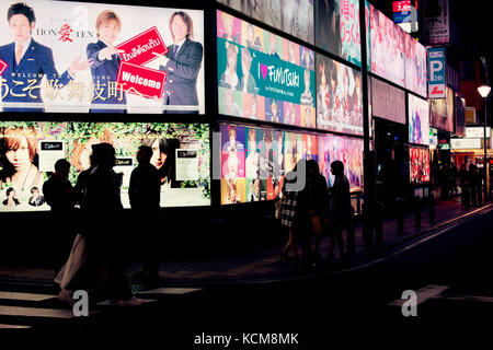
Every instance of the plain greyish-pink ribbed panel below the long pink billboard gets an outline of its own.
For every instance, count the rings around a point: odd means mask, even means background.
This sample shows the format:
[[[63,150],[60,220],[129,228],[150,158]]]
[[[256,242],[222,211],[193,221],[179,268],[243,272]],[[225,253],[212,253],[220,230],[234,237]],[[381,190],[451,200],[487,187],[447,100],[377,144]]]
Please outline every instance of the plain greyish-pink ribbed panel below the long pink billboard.
[[[371,78],[371,115],[405,124],[404,91]]]

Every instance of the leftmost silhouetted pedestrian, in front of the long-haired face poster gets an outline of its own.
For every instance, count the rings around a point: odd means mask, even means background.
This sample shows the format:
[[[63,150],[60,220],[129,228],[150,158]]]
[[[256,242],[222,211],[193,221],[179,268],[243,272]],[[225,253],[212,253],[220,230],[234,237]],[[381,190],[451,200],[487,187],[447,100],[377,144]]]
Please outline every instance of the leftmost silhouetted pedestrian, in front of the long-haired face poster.
[[[43,185],[44,200],[51,207],[51,247],[55,249],[55,266],[58,271],[64,266],[73,242],[73,189],[68,180],[70,163],[60,159],[55,163],[55,172]]]

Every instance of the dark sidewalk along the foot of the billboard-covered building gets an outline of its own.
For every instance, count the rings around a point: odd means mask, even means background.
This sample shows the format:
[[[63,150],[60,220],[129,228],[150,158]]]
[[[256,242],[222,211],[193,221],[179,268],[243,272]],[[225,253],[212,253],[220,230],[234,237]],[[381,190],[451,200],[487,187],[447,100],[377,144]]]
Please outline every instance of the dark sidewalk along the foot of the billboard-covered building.
[[[482,208],[493,206],[485,205]],[[389,249],[410,243],[410,241],[433,232],[440,226],[445,226],[465,215],[473,215],[478,208],[466,210],[460,203],[460,196],[451,200],[436,201],[436,220],[428,222],[428,207],[422,208],[422,228],[414,228],[414,212],[404,213],[404,232],[398,233],[398,223],[394,218],[383,220],[383,240],[380,244],[372,247],[366,247],[362,236],[362,225],[356,225],[356,254],[344,266],[334,266],[331,271],[345,269],[365,264],[371,259],[378,258]],[[287,237],[286,237],[287,240]],[[329,250],[329,238],[324,237],[321,245],[321,254],[326,256]],[[299,253],[301,250],[299,249]],[[317,276],[328,272],[328,270],[314,270],[301,272],[294,270],[290,261],[280,261],[280,246],[274,248],[262,248],[249,254],[221,256],[221,257],[200,257],[200,258],[163,258],[161,260],[160,278],[164,287],[174,285],[205,285],[214,283],[231,283],[240,281],[260,281],[260,280],[283,280],[289,278],[300,278]],[[131,281],[134,272],[138,271],[140,265],[131,265],[127,268],[127,277]],[[36,268],[9,268],[0,267],[1,280],[36,280],[38,282],[50,282],[54,278],[54,271],[50,269]],[[137,287],[138,288],[138,287]]]

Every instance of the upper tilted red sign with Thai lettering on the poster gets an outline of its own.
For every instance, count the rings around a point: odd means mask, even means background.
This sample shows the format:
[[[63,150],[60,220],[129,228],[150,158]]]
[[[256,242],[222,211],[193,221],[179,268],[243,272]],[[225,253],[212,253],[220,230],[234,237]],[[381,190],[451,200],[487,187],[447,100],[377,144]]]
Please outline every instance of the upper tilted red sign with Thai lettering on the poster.
[[[124,62],[142,66],[157,58],[156,54],[165,55],[169,52],[164,40],[156,26],[140,33],[133,38],[115,46],[124,52],[119,57]]]

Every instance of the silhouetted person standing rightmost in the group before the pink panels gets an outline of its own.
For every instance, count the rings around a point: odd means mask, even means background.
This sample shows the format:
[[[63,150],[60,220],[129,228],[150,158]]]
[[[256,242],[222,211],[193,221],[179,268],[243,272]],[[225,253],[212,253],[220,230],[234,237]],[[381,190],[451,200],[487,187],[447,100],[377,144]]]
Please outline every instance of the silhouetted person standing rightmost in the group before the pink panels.
[[[334,185],[329,189],[329,224],[331,225],[331,238],[329,247],[329,261],[334,261],[335,244],[339,246],[340,258],[345,256],[343,231],[351,226],[351,194],[349,182],[344,175],[344,163],[334,161],[331,163],[331,173],[335,176]]]

